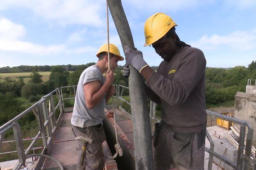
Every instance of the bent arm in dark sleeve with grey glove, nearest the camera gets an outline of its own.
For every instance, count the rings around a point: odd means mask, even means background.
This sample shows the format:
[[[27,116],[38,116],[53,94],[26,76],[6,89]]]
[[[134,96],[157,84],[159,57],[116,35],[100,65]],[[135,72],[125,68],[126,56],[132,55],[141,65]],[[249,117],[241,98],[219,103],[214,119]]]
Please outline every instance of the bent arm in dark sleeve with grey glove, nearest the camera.
[[[143,59],[140,51],[127,48],[125,59],[128,65],[136,68],[147,80],[148,85],[155,94],[169,105],[180,105],[186,101],[191,91],[205,75],[206,60],[201,50],[191,48],[180,61],[180,68],[175,77],[170,80],[154,72]],[[145,65],[142,67],[142,65]]]

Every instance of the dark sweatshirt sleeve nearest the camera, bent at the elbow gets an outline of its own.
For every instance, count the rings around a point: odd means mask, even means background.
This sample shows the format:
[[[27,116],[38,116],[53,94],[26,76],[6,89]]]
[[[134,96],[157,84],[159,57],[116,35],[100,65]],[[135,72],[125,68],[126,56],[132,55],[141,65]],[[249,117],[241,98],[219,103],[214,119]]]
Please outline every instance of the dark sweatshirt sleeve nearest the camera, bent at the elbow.
[[[201,50],[193,48],[181,56],[172,80],[154,72],[146,82],[169,105],[181,105],[205,74],[206,60]]]

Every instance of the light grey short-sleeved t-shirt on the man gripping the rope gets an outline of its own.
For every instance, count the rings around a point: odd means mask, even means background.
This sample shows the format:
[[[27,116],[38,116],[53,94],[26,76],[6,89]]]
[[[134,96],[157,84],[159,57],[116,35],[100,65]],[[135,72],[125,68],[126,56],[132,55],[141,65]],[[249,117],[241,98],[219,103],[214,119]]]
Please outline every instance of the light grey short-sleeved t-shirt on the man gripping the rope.
[[[92,81],[100,81],[101,86],[105,83],[105,78],[96,65],[86,68],[79,78],[73,115],[71,118],[71,124],[74,126],[88,127],[102,123],[106,98],[103,97],[93,109],[88,109],[85,104],[84,84]]]

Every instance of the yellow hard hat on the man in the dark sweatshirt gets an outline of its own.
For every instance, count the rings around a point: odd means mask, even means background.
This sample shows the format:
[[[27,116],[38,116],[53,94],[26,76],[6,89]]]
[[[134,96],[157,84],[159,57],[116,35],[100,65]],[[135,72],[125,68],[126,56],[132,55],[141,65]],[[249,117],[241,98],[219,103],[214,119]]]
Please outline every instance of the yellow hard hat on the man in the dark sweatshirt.
[[[163,37],[173,26],[177,24],[164,13],[156,13],[149,17],[144,26],[145,46],[148,46]]]

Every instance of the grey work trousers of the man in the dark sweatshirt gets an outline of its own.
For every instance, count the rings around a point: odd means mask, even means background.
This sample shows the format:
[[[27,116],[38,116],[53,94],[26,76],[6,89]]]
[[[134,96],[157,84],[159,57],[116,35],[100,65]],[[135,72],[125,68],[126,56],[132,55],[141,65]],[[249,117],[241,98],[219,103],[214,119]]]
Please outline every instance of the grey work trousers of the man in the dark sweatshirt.
[[[205,130],[177,133],[163,122],[155,125],[154,170],[204,170]]]

